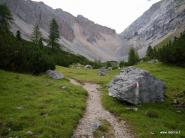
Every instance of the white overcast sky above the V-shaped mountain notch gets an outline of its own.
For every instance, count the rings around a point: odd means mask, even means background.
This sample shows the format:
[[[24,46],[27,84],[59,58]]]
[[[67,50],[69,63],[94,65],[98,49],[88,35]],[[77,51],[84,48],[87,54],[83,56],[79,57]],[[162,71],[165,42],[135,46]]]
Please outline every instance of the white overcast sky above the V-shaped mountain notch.
[[[34,0],[61,8],[74,16],[83,15],[95,23],[121,33],[160,0]]]

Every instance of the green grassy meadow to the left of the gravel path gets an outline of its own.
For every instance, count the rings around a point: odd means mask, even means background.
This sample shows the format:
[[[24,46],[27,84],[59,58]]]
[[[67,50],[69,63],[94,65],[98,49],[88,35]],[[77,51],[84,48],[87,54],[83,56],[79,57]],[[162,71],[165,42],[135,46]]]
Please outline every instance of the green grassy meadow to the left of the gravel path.
[[[69,138],[86,97],[68,80],[0,70],[0,138]]]

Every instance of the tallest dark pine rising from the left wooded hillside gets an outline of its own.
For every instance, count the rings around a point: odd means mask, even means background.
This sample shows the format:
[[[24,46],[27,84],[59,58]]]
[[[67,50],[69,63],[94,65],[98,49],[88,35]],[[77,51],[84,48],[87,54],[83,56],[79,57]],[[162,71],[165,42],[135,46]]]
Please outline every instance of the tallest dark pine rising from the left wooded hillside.
[[[50,23],[49,45],[54,49],[58,47],[58,39],[60,38],[59,26],[55,19]]]

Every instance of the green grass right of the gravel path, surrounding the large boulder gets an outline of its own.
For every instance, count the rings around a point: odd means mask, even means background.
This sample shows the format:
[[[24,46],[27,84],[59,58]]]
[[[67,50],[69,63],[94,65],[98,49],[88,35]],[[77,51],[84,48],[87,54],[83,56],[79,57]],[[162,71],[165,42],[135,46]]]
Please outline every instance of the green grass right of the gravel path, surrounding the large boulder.
[[[175,109],[171,103],[177,94],[185,91],[185,68],[163,64],[139,64],[143,68],[164,81],[166,85],[165,102],[138,106],[138,111],[129,111],[125,103],[108,96],[107,84],[119,73],[118,70],[109,71],[106,76],[99,76],[97,70],[71,69],[57,67],[69,78],[80,82],[94,82],[102,86],[102,103],[110,112],[120,119],[126,120],[130,129],[139,138],[185,137],[185,111]],[[161,131],[175,131],[180,134],[160,134]],[[170,133],[170,132],[169,132]],[[173,133],[173,132],[172,132]]]

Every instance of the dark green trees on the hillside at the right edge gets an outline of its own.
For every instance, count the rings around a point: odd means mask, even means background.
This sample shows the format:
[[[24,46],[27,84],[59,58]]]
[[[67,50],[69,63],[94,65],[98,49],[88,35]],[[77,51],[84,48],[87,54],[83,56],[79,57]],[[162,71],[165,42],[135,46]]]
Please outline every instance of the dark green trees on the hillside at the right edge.
[[[148,47],[146,59],[158,59],[165,64],[185,66],[185,32],[160,47]]]

